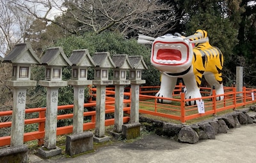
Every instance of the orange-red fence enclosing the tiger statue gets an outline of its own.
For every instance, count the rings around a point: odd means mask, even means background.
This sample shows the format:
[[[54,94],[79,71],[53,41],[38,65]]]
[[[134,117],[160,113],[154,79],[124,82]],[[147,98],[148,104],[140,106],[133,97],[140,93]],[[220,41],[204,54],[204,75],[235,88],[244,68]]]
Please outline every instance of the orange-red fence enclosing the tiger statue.
[[[176,90],[180,91],[179,89],[180,86],[178,86]],[[213,90],[212,96],[210,96],[209,94],[211,92],[211,89],[207,87],[201,88],[201,93],[206,95],[198,99],[185,99],[184,92],[180,92],[180,94],[175,94],[173,98],[147,96],[141,94],[140,97],[148,100],[140,100],[140,113],[155,115],[164,118],[171,118],[173,120],[179,120],[180,122],[185,123],[188,120],[204,117],[207,115],[216,115],[220,111],[233,110],[241,106],[255,103],[255,91],[255,89],[246,89],[246,87],[243,87],[243,91],[236,92],[235,87],[225,87],[224,94],[218,95],[224,96],[224,99],[222,101],[216,101],[216,98],[218,96],[216,96],[215,90]],[[173,103],[157,103],[157,100],[161,99],[170,100],[173,101]],[[188,101],[195,100],[204,101],[205,113],[198,113],[198,108],[196,105],[186,106],[186,103]]]

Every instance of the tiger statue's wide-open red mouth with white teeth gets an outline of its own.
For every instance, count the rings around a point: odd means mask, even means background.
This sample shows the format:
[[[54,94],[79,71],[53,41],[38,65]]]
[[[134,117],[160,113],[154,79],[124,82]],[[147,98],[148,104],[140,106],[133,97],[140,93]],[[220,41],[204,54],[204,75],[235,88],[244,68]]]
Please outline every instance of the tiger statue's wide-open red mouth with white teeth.
[[[188,45],[183,42],[156,41],[152,46],[151,60],[154,64],[177,66],[188,62]]]

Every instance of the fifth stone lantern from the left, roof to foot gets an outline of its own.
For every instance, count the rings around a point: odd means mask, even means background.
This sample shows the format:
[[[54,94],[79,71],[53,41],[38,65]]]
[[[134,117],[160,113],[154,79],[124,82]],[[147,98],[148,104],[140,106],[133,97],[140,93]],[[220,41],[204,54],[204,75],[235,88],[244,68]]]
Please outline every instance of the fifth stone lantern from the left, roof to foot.
[[[124,124],[124,85],[129,85],[130,80],[126,79],[126,73],[132,66],[127,54],[113,55],[113,62],[116,67],[113,69],[113,85],[115,85],[115,125],[114,131],[121,132]],[[113,132],[115,137],[118,133]]]

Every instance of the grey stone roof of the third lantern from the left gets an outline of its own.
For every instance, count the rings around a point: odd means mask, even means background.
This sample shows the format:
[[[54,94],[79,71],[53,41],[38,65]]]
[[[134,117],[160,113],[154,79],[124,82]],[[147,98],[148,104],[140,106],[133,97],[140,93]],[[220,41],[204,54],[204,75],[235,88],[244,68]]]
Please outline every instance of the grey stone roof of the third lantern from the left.
[[[87,49],[73,50],[72,54],[68,59],[72,63],[72,66],[85,66],[85,67],[96,66],[95,62],[93,61]]]

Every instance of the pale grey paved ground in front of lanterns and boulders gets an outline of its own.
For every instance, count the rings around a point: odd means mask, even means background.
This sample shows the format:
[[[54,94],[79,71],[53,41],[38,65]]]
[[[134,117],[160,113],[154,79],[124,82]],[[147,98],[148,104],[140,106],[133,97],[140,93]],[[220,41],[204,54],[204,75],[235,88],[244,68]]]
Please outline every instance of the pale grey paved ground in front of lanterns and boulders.
[[[195,144],[179,143],[170,138],[148,134],[132,143],[103,146],[95,152],[74,158],[41,159],[29,155],[30,162],[253,162],[256,159],[256,124],[229,129]]]

